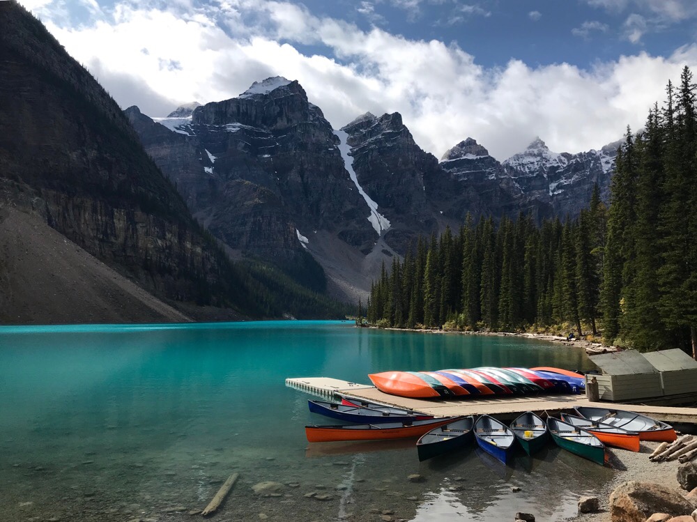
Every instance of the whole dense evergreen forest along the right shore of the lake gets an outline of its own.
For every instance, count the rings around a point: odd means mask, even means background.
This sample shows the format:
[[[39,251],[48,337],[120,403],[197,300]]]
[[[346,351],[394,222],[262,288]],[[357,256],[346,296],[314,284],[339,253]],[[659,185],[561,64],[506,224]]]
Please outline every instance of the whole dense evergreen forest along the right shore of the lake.
[[[689,68],[636,136],[608,206],[574,220],[467,218],[421,238],[372,284],[367,321],[403,328],[553,331],[697,353],[697,86]]]

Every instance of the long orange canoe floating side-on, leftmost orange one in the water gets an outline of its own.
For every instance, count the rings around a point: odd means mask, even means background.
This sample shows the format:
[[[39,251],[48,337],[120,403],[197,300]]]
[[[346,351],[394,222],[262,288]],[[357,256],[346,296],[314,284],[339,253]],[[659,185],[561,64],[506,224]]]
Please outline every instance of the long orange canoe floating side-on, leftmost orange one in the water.
[[[415,420],[404,422],[385,422],[384,424],[346,424],[337,426],[306,426],[305,436],[311,443],[331,443],[340,440],[389,440],[394,438],[419,438],[445,424],[461,417],[441,417],[440,419]]]

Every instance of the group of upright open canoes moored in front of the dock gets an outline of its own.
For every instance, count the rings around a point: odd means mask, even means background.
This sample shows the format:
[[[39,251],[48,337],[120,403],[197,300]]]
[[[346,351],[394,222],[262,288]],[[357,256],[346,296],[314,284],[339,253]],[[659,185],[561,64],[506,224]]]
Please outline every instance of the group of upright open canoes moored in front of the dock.
[[[605,408],[577,407],[575,415],[560,413],[560,418],[547,416],[546,420],[526,412],[510,426],[489,415],[434,418],[412,410],[366,401],[352,402],[346,398],[342,399],[342,404],[311,400],[309,409],[313,413],[360,423],[306,426],[305,434],[311,443],[419,438],[416,447],[421,461],[466,447],[474,439],[482,450],[506,463],[514,454],[516,440],[530,455],[541,450],[551,436],[564,450],[603,465],[605,445],[638,452],[640,440],[672,441],[676,438],[673,427],[665,422]]]

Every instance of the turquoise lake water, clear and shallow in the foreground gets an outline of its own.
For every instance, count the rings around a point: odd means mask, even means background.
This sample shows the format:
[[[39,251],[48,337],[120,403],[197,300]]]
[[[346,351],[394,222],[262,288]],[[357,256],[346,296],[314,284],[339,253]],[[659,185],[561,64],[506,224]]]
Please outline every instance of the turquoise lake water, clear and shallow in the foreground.
[[[333,422],[285,386],[480,365],[592,367],[544,341],[347,322],[0,327],[0,521],[189,521],[231,473],[215,520],[573,516],[611,470],[553,446],[504,467],[474,448],[419,463],[413,440],[310,445],[305,424]]]

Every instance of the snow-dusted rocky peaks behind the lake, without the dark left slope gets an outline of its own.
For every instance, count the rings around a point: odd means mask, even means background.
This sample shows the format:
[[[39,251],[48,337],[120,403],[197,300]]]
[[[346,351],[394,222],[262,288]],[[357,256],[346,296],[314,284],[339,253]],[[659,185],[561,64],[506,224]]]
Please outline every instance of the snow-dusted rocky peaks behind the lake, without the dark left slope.
[[[366,295],[382,263],[468,213],[574,217],[593,186],[607,197],[619,143],[553,153],[535,139],[504,162],[472,138],[439,161],[399,113],[332,129],[297,81],[271,77],[237,98],[125,114],[194,217],[233,256],[273,260],[331,295]],[[313,286],[314,285],[314,286]]]

